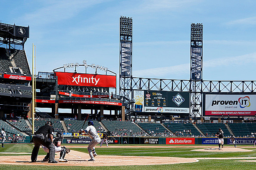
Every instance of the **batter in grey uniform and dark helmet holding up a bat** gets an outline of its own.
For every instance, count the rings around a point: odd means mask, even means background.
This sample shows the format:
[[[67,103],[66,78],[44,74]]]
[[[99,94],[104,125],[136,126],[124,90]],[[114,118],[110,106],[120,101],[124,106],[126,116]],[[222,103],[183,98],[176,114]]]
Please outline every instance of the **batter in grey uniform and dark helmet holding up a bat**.
[[[100,137],[94,127],[94,122],[88,121],[88,126],[86,127],[85,130],[81,129],[80,133],[86,133],[91,138],[91,142],[89,143],[89,145],[87,147],[89,155],[91,157],[91,159],[89,159],[88,161],[95,161],[94,157],[97,156],[97,154],[96,154],[94,146],[96,146],[98,143],[100,143]]]

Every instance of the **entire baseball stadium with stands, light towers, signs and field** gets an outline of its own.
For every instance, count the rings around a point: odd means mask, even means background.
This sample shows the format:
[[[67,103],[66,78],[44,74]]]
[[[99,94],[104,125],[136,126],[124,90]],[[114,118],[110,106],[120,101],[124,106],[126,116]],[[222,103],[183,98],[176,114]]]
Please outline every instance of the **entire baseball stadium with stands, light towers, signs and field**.
[[[118,26],[119,73],[86,58],[46,72],[30,27],[1,21],[0,169],[256,168],[256,81],[203,79],[203,24],[187,80],[132,76],[133,18]]]

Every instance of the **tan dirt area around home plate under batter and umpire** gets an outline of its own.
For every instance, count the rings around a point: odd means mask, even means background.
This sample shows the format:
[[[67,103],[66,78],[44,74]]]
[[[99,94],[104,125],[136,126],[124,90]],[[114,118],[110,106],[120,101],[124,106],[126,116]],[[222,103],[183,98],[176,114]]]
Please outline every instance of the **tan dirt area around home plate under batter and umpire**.
[[[176,157],[152,157],[152,156],[116,156],[116,155],[98,155],[95,161],[87,161],[89,154],[72,150],[66,154],[65,159],[68,162],[59,162],[49,164],[41,162],[44,155],[38,155],[37,161],[31,163],[30,155],[27,156],[0,156],[0,164],[12,165],[59,165],[59,166],[123,166],[123,165],[157,165],[157,164],[180,164],[197,162],[195,158],[176,158]],[[55,155],[56,160],[59,154]]]

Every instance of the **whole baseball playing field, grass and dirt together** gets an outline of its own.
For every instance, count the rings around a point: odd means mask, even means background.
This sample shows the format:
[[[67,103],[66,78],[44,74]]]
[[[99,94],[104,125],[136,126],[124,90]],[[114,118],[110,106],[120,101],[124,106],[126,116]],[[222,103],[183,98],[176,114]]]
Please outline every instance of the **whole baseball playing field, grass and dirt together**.
[[[43,149],[39,150],[38,162],[29,162],[33,144],[6,144],[0,148],[0,169],[256,169],[256,147],[252,145],[225,145],[221,150],[215,145],[103,145],[96,146],[96,161],[87,161],[85,144],[65,146],[71,149],[65,157],[69,161],[49,164],[41,162],[46,155]],[[55,159],[59,159],[59,153]]]

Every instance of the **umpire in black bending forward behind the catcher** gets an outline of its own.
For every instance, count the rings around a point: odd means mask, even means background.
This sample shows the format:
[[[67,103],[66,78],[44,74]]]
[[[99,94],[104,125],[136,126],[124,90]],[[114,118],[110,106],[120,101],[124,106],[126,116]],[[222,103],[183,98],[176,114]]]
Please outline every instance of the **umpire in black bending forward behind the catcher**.
[[[55,157],[55,146],[53,145],[53,127],[52,122],[47,121],[44,126],[40,127],[35,135],[33,136],[32,140],[34,141],[34,148],[31,154],[31,161],[36,162],[37,161],[37,155],[38,151],[41,145],[47,147],[49,149],[49,163],[57,163],[57,161],[54,160]],[[48,137],[50,139],[48,139]]]

